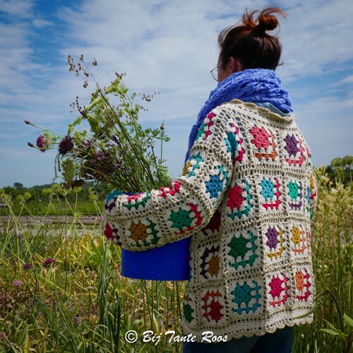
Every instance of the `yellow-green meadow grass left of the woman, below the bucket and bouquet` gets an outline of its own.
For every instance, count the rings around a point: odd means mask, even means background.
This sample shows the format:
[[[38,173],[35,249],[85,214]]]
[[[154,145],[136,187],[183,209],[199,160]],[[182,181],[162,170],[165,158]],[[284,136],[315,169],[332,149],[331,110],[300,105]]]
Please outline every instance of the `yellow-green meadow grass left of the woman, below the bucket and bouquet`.
[[[182,283],[121,277],[119,247],[74,209],[47,225],[9,208],[0,224],[0,352],[181,352],[164,332],[181,335]]]

